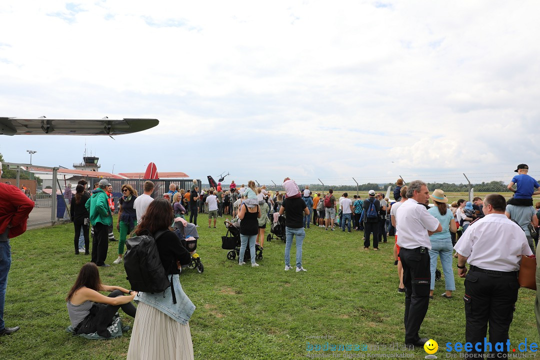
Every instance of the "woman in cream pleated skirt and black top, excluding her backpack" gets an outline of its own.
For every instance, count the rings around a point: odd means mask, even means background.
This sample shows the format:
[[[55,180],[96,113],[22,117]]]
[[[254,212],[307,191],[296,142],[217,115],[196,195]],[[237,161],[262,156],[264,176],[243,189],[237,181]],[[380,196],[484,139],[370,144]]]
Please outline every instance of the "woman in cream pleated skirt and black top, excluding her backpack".
[[[173,283],[176,301],[173,301],[171,288],[158,294],[139,292],[135,298],[139,306],[127,351],[128,360],[193,359],[188,321],[195,305],[184,293],[178,277],[181,266],[191,263],[191,255],[179,237],[169,230],[172,221],[170,203],[156,199],[150,203],[135,229],[137,236],[160,233],[156,246],[165,274]]]

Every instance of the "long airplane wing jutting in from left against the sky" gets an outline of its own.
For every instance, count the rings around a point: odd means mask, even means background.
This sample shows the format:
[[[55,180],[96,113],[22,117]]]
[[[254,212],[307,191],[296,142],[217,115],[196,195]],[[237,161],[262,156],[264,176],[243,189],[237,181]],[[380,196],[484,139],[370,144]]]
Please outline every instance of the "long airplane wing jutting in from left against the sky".
[[[158,119],[22,119],[0,117],[0,135],[122,135],[147,130]]]

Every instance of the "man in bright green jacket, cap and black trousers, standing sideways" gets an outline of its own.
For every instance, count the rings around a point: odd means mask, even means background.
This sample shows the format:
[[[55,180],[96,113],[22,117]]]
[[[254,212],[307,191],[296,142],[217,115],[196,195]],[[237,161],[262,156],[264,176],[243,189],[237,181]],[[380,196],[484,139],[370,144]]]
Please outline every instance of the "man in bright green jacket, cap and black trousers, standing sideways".
[[[112,225],[109,195],[105,192],[107,186],[111,186],[109,180],[100,180],[98,188],[92,191],[92,196],[85,205],[86,210],[90,212],[90,223],[94,229],[91,261],[102,267],[110,266],[105,264],[109,250],[109,227]]]

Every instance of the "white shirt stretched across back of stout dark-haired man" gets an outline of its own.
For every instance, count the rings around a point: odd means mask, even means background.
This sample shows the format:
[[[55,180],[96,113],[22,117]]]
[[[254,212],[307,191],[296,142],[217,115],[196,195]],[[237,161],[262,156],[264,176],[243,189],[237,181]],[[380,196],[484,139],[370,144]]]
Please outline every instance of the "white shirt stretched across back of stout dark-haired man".
[[[504,214],[485,215],[469,225],[454,249],[470,265],[497,271],[517,271],[521,256],[532,255],[523,229]]]

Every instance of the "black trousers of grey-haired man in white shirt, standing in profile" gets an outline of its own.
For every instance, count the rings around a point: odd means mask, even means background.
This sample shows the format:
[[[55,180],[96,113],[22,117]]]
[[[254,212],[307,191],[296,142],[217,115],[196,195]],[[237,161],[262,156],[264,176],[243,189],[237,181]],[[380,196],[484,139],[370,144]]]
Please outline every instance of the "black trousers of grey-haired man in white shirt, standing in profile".
[[[418,332],[428,312],[431,271],[429,252],[424,248],[400,249],[405,286],[405,343],[413,344],[420,340]]]

